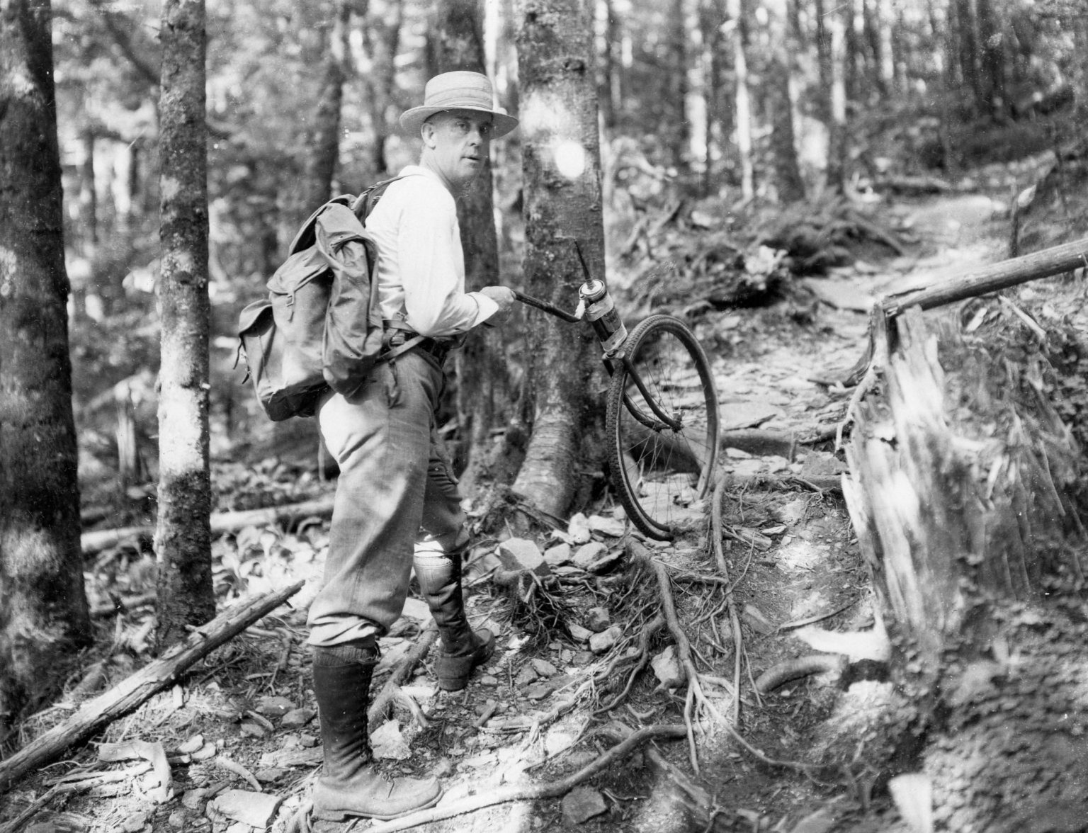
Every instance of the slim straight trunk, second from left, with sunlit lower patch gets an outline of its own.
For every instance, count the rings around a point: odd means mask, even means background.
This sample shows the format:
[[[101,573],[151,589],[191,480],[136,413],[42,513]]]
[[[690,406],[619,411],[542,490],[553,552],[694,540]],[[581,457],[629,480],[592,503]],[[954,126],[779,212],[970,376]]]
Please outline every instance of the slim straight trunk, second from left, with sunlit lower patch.
[[[203,0],[162,7],[158,561],[160,647],[215,614],[208,462],[208,175]]]

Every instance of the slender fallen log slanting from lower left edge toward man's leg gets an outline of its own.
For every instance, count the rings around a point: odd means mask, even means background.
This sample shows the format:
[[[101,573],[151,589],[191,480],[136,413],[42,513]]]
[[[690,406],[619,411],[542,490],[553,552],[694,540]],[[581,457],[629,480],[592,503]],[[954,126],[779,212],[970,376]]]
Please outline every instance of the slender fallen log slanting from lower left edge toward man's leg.
[[[51,763],[69,747],[85,741],[158,692],[176,683],[193,663],[275,610],[298,593],[302,584],[304,582],[298,582],[276,593],[265,594],[224,610],[164,656],[149,662],[95,699],[87,700],[66,720],[0,761],[0,795],[11,790],[27,772]]]

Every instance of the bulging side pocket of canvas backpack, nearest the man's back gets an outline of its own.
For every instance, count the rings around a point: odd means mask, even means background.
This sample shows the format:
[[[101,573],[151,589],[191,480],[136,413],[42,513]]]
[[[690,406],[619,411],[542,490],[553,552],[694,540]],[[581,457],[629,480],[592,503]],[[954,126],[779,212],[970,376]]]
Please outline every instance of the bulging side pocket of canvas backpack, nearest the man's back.
[[[351,396],[367,381],[382,350],[382,322],[371,299],[378,248],[348,208],[331,208],[319,219],[318,251],[332,271],[322,341],[325,382]]]

